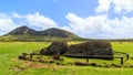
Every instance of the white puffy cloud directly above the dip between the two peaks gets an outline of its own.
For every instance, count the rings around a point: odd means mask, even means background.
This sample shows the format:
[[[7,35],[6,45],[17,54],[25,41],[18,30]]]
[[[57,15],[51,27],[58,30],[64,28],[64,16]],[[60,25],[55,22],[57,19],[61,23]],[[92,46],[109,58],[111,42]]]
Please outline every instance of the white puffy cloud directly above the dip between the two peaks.
[[[48,28],[55,28],[58,26],[58,23],[55,23],[53,20],[40,14],[40,13],[33,13],[33,14],[28,14],[25,17],[28,23],[30,25],[39,26],[42,29],[48,29]]]

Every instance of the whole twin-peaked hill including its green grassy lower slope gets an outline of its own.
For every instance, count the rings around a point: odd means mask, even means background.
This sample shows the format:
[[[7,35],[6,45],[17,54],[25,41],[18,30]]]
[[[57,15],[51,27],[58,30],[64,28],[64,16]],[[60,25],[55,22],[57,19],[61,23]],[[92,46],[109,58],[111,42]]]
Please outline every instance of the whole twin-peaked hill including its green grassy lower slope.
[[[19,26],[0,38],[0,41],[68,41],[82,40],[72,32],[51,28],[43,31],[35,31],[28,26]]]

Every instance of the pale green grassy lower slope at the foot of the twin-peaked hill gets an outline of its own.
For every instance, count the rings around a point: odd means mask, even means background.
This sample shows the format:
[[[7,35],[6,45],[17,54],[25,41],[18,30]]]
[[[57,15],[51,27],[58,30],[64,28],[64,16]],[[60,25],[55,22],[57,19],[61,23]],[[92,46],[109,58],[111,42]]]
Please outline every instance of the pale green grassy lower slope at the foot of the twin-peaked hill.
[[[72,38],[58,38],[58,36],[42,36],[42,35],[6,35],[0,36],[1,42],[13,42],[13,41],[21,41],[21,42],[45,42],[45,41],[81,41],[85,40],[78,36]]]

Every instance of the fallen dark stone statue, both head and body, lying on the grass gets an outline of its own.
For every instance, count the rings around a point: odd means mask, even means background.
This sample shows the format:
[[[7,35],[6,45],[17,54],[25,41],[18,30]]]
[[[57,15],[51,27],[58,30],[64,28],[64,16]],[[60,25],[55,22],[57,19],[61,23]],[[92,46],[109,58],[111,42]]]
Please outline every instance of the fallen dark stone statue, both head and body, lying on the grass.
[[[90,41],[85,43],[68,45],[66,42],[52,42],[47,49],[42,49],[40,54],[53,55],[63,54],[66,56],[88,56],[113,58],[112,45],[106,41]]]

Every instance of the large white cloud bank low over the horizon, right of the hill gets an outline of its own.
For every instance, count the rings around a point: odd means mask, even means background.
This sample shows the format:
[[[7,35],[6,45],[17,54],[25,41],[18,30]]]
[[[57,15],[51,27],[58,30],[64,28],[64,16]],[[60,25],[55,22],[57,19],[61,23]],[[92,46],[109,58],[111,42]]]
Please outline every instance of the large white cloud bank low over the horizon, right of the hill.
[[[106,14],[81,18],[74,13],[68,13],[69,26],[75,33],[85,38],[116,39],[133,38],[133,18],[122,17],[111,20]]]

